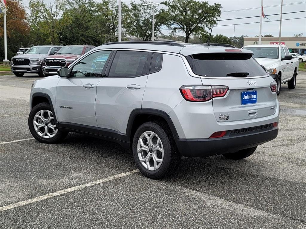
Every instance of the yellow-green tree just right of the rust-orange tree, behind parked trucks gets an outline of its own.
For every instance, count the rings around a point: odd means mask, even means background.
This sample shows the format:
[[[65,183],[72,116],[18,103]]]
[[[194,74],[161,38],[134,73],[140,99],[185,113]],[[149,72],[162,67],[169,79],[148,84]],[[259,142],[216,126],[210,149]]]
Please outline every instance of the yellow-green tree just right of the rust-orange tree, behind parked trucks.
[[[29,0],[31,36],[33,45],[58,45],[59,18],[66,5],[64,0],[53,0],[46,4],[43,0]]]

